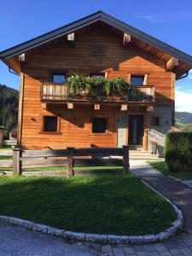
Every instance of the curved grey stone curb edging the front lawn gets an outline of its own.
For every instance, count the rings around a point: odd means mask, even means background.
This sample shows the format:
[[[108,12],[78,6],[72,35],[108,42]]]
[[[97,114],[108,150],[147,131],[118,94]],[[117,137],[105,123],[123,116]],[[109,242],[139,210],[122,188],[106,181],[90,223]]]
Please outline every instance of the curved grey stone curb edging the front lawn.
[[[161,195],[158,191],[156,191],[153,187],[145,183],[143,180],[142,182],[148,186],[150,189],[153,189],[157,194],[162,196],[166,199],[165,196]],[[174,211],[177,213],[177,219],[172,222],[172,226],[160,232],[157,235],[144,235],[144,236],[116,236],[116,235],[103,235],[103,234],[89,234],[89,233],[81,233],[81,232],[73,232],[68,230],[60,230],[54,227],[49,227],[44,224],[37,224],[32,221],[24,220],[21,218],[13,218],[8,216],[0,215],[0,221],[7,224],[18,225],[20,227],[26,228],[28,230],[38,231],[44,234],[48,234],[51,236],[59,236],[64,240],[70,241],[88,241],[88,242],[98,242],[103,244],[114,244],[114,245],[125,245],[125,244],[143,244],[143,243],[150,243],[150,242],[158,242],[158,241],[165,241],[166,239],[174,236],[179,228],[183,226],[183,214],[182,212],[172,203],[172,201],[168,201]]]

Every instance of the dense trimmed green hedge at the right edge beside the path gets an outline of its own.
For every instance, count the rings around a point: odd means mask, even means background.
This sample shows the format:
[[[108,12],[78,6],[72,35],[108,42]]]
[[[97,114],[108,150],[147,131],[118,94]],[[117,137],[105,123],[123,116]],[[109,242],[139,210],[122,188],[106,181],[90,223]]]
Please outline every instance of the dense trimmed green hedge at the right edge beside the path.
[[[165,159],[171,172],[192,171],[192,132],[167,133]]]

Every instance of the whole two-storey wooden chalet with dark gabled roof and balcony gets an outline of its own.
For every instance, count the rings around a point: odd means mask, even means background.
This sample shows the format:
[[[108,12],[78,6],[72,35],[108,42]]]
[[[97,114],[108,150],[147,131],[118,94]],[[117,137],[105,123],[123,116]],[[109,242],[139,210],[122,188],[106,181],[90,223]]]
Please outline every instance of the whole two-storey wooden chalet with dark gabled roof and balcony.
[[[102,11],[6,49],[1,60],[20,74],[18,146],[26,149],[163,147],[174,125],[175,80],[192,56]],[[122,77],[131,96],[70,95],[67,77]]]

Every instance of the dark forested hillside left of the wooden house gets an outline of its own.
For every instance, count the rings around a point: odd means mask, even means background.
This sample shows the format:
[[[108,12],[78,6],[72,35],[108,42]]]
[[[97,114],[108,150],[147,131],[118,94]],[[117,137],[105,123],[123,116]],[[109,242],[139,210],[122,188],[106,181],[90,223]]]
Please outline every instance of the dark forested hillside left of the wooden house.
[[[19,91],[0,84],[0,125],[10,131],[17,125]]]

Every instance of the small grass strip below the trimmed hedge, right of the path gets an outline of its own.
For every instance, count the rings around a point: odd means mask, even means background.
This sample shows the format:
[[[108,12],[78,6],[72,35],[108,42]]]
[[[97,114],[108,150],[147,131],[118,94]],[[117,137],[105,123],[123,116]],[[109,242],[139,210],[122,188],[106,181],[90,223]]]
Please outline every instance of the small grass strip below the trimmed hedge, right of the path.
[[[165,175],[170,175],[172,177],[177,177],[181,180],[191,180],[192,179],[192,172],[171,172],[169,171],[168,167],[166,166],[165,161],[148,161],[148,164],[153,166],[155,169],[159,170]]]

